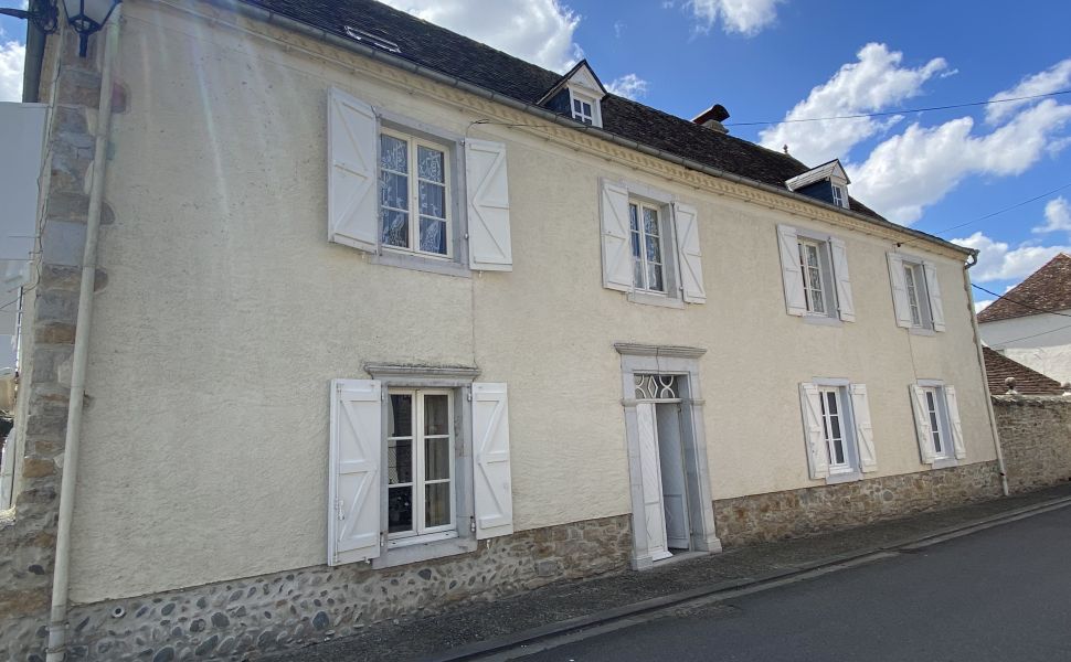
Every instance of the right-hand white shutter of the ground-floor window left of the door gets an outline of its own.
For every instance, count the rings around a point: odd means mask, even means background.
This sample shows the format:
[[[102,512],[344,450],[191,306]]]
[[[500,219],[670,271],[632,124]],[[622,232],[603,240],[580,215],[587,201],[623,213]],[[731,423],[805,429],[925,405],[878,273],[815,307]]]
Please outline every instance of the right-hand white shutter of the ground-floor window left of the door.
[[[473,384],[476,538],[513,533],[506,384]]]

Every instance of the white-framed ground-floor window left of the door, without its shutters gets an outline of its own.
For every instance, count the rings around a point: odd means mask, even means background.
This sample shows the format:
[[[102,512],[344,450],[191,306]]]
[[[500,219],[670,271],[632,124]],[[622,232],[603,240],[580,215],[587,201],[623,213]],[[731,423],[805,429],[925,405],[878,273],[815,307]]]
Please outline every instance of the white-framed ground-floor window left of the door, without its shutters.
[[[390,403],[388,537],[400,544],[456,535],[453,394],[392,389]]]

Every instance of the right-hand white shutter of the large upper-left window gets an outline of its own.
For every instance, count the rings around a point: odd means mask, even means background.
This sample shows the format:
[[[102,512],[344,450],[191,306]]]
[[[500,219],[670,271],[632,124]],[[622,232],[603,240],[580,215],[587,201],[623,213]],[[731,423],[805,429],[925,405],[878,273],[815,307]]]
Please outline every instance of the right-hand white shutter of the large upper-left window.
[[[466,139],[465,182],[468,189],[469,266],[485,271],[512,271],[506,146]]]

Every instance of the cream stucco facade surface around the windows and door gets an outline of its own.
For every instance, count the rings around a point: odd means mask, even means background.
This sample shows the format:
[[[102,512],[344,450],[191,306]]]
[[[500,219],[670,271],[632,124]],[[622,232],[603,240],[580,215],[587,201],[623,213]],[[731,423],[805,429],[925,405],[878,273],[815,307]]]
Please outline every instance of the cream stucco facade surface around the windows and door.
[[[818,204],[628,153],[205,4],[124,3],[71,598],[322,564],[329,383],[369,361],[475,365],[510,389],[518,531],[630,512],[615,342],[701,359],[713,498],[808,479],[798,384],[867,384],[878,470],[920,462],[908,386],[958,391],[967,459],[995,459],[963,255]],[[234,25],[233,23],[238,23]],[[327,94],[505,142],[513,268],[446,276],[327,241]],[[602,178],[699,212],[707,302],[602,287]],[[852,323],[786,314],[775,227],[847,243]],[[937,265],[945,332],[895,324],[886,253]]]

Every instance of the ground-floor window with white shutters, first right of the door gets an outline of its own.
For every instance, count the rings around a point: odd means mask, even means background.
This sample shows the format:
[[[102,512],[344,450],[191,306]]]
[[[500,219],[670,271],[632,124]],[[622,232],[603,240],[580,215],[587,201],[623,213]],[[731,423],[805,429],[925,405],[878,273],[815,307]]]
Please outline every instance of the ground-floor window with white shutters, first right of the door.
[[[810,478],[842,482],[877,469],[865,384],[816,378],[799,385],[799,398]]]

